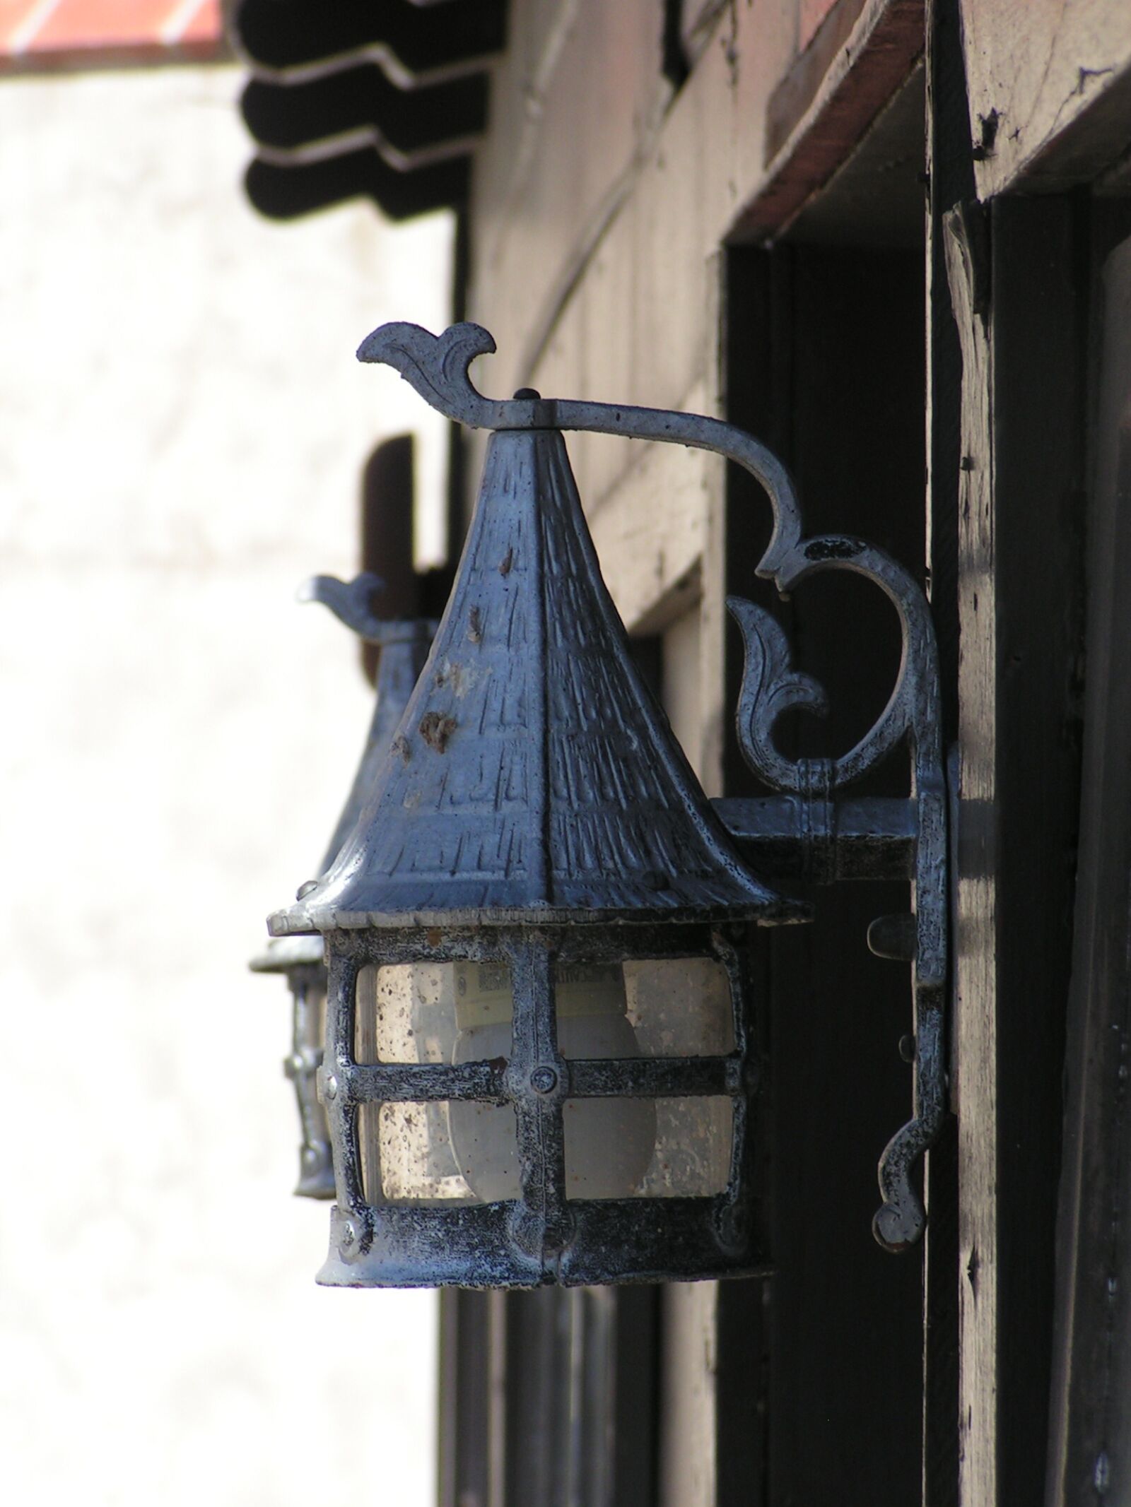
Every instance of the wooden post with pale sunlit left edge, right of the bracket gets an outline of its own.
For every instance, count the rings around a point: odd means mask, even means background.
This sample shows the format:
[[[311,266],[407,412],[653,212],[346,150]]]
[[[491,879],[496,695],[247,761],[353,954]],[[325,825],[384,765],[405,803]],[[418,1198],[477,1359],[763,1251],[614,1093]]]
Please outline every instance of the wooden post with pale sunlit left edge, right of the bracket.
[[[1071,960],[1081,653],[1080,226],[1062,199],[949,222],[964,354],[953,1091],[962,1502],[1041,1501]]]

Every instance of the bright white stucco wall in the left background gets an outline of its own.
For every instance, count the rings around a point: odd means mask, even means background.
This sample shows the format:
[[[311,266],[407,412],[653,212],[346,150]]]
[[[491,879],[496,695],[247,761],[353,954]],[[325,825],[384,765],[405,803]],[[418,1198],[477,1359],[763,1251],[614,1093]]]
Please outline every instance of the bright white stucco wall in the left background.
[[[294,588],[353,574],[362,461],[422,416],[353,350],[443,326],[448,231],[259,222],[238,83],[0,83],[14,1504],[433,1495],[434,1295],[314,1285],[287,992],[246,960],[369,714],[354,645]]]

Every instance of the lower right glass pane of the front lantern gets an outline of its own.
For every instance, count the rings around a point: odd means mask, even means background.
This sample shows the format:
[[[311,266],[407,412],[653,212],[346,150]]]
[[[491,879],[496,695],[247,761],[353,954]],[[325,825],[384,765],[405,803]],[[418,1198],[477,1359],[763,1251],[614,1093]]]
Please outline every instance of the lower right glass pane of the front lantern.
[[[567,1099],[564,1123],[567,1198],[703,1198],[730,1180],[730,1099]]]

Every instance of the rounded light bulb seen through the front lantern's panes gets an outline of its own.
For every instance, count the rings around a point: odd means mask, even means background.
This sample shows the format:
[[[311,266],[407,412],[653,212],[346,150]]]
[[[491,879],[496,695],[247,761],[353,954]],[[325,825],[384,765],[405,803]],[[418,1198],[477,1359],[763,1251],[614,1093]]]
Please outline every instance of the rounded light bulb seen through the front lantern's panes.
[[[452,1062],[507,1058],[514,995],[505,963],[452,963],[457,1037]],[[626,1016],[620,964],[559,963],[553,971],[558,1050],[572,1059],[641,1056]],[[448,1106],[451,1142],[477,1198],[520,1197],[514,1112],[474,1100]],[[656,1108],[647,1099],[570,1099],[566,1189],[570,1198],[630,1198],[656,1147]]]

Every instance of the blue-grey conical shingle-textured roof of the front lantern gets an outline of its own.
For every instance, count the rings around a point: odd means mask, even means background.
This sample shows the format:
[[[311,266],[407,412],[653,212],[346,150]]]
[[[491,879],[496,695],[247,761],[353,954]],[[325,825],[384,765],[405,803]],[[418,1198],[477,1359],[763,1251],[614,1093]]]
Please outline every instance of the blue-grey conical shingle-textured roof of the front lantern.
[[[493,434],[389,755],[271,931],[801,913],[739,857],[641,681],[561,434]]]

